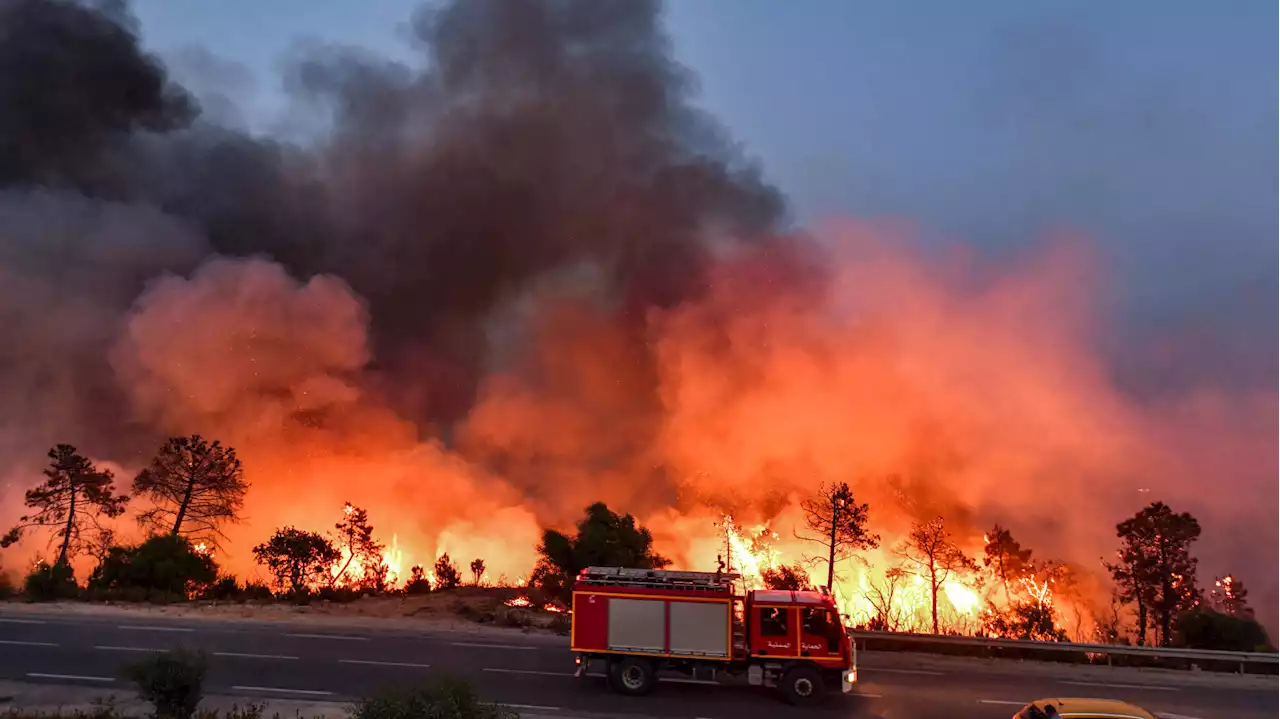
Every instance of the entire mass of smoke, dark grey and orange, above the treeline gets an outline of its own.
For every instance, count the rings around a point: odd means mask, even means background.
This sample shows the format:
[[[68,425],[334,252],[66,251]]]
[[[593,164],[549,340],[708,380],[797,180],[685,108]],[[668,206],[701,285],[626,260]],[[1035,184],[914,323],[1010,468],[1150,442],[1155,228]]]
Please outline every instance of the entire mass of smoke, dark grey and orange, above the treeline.
[[[298,145],[202,115],[123,3],[0,0],[0,518],[54,443],[127,485],[187,432],[246,463],[242,569],[348,500],[415,562],[517,576],[604,500],[707,563],[717,516],[790,522],[835,480],[886,537],[1001,522],[1088,571],[1164,499],[1204,526],[1202,578],[1274,615],[1274,388],[1119,386],[1085,237],[996,262],[901,225],[788,232],[660,19],[424,9],[426,69],[292,68],[332,125]]]

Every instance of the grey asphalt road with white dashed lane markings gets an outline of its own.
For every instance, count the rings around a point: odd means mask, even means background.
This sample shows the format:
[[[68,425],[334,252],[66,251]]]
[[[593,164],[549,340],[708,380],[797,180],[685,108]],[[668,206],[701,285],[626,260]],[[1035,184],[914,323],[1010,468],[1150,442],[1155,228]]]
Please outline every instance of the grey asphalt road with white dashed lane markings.
[[[980,664],[913,668],[863,652],[855,696],[795,709],[744,686],[664,682],[648,697],[613,695],[600,678],[575,679],[563,640],[536,636],[421,633],[284,623],[84,618],[0,613],[0,678],[122,690],[123,664],[175,646],[212,656],[207,693],[342,701],[387,683],[449,670],[481,693],[531,714],[630,714],[672,719],[1004,719],[1032,699],[1101,696],[1133,701],[1174,719],[1275,716],[1276,688],[1197,686],[1174,679],[1125,683],[1071,674],[1010,676]],[[1132,679],[1130,679],[1132,681]]]

